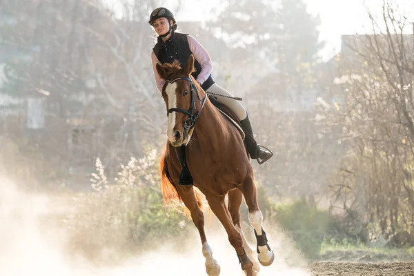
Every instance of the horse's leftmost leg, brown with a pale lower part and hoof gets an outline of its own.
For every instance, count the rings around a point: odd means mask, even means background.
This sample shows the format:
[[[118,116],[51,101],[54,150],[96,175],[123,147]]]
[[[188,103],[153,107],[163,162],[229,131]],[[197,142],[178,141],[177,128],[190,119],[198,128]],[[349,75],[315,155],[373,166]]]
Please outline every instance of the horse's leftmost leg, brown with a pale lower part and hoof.
[[[188,210],[190,210],[191,219],[193,219],[193,223],[199,230],[201,244],[203,245],[203,255],[206,258],[206,273],[208,276],[218,276],[220,274],[220,266],[213,258],[213,251],[208,245],[204,231],[204,214],[199,208],[194,188],[193,186],[179,186],[177,192]]]

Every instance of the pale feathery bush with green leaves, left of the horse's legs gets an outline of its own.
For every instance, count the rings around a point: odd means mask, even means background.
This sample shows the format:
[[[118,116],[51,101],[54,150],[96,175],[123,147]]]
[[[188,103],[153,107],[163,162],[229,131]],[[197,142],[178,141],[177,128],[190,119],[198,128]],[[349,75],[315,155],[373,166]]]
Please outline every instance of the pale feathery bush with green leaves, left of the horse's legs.
[[[116,261],[120,253],[154,248],[193,227],[186,217],[162,205],[155,151],[143,159],[131,157],[113,183],[108,182],[100,159],[96,167],[92,193],[77,195],[75,210],[66,219],[73,249],[91,259]]]

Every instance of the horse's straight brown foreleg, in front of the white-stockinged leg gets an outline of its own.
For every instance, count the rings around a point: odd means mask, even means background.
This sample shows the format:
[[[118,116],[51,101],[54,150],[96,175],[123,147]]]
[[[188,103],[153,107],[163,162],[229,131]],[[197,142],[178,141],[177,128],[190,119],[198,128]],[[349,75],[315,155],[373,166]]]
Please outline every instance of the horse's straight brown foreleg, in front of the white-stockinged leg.
[[[224,229],[226,229],[228,241],[235,248],[237,257],[239,257],[240,264],[242,264],[242,269],[248,276],[256,275],[256,272],[253,270],[253,263],[250,262],[250,259],[244,250],[242,235],[233,225],[230,213],[226,208],[226,204],[224,203],[224,196],[206,195],[206,197],[211,210],[213,210],[213,213],[215,213],[217,219],[219,219],[221,224],[224,226]]]

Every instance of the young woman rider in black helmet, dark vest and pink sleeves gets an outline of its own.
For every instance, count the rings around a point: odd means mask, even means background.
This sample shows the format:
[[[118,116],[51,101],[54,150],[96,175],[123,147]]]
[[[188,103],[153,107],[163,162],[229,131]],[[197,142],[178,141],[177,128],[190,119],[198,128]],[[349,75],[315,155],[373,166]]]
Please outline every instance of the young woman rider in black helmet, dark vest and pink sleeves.
[[[242,103],[226,97],[233,97],[233,95],[218,86],[213,80],[211,76],[213,69],[212,62],[208,52],[206,52],[203,46],[189,34],[175,32],[177,30],[177,23],[172,12],[166,8],[156,8],[152,11],[148,23],[150,23],[158,34],[157,43],[151,52],[152,68],[158,90],[162,92],[165,81],[159,77],[155,64],[172,63],[178,60],[181,66],[183,66],[188,61],[190,55],[193,55],[195,57],[195,72],[192,73],[193,77],[204,91],[213,93],[217,97],[217,101],[233,110],[244,130],[250,134],[246,135],[246,148],[250,157],[252,159],[258,159],[260,164],[270,159],[273,153],[257,145],[255,139],[253,139],[253,129],[250,124],[250,119]],[[251,139],[248,139],[249,136]],[[191,185],[193,184],[193,179],[185,164],[185,146],[176,147],[176,151],[181,166],[183,167],[179,182],[182,185]]]

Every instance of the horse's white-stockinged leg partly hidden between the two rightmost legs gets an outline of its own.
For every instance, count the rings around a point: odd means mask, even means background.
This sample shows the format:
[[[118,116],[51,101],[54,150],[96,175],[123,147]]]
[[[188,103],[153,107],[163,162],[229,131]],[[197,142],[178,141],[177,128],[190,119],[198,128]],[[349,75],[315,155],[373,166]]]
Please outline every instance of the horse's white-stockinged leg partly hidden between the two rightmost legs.
[[[239,231],[240,235],[242,235],[244,250],[246,250],[246,254],[248,255],[250,261],[253,262],[254,270],[259,271],[260,266],[257,262],[255,251],[248,244],[240,224],[240,206],[242,205],[242,201],[243,194],[239,189],[230,190],[230,192],[228,192],[228,211],[230,212],[231,219],[233,220],[235,228]]]

